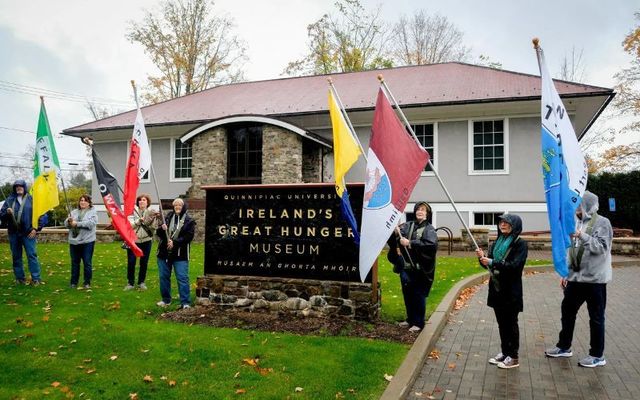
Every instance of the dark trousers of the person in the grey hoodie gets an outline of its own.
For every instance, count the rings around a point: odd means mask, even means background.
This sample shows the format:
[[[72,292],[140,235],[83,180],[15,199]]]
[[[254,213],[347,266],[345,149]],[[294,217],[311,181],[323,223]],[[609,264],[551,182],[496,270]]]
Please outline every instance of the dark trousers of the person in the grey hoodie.
[[[573,341],[573,330],[576,326],[576,315],[584,302],[589,311],[589,332],[591,336],[589,355],[602,357],[604,353],[604,311],[607,307],[607,284],[567,282],[562,299],[562,330],[558,346],[570,349]]]

